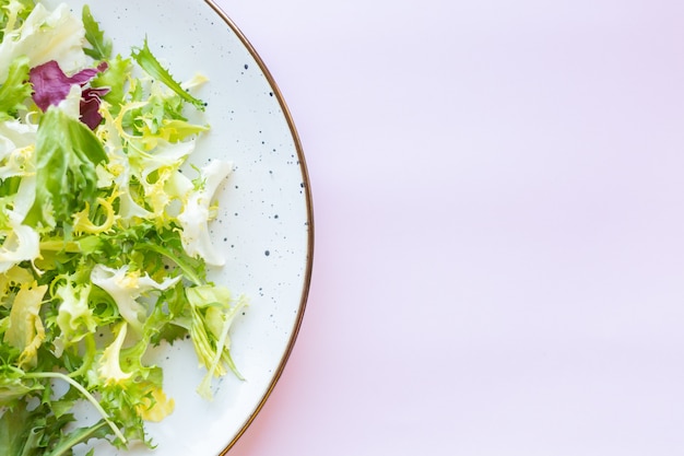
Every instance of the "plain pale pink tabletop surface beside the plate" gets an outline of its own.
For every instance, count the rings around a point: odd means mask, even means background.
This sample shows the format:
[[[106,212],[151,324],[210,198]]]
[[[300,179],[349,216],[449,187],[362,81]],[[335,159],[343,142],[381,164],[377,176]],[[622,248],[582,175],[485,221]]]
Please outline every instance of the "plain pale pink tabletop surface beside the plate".
[[[219,3],[316,220],[232,456],[684,454],[684,3]]]

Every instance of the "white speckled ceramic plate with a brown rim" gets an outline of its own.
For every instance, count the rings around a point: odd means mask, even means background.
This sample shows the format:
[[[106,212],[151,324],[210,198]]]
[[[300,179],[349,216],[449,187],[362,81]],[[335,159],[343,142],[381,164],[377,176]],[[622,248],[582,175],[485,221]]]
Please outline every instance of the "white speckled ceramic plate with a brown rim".
[[[44,1],[48,8],[59,0]],[[282,96],[246,38],[210,0],[67,0],[80,15],[89,3],[115,52],[128,56],[148,37],[150,48],[178,80],[205,74],[198,96],[208,102],[212,131],[192,162],[233,161],[220,189],[212,225],[226,266],[215,282],[245,294],[250,306],[234,324],[233,358],[246,381],[228,374],[212,402],[196,386],[202,377],[188,344],[162,348],[165,388],[174,413],[148,430],[154,452],[98,445],[96,455],[215,456],[224,454],[267,400],[293,348],[308,293],[312,217],[304,155]],[[83,420],[89,420],[87,411]],[[80,454],[84,453],[81,448]]]

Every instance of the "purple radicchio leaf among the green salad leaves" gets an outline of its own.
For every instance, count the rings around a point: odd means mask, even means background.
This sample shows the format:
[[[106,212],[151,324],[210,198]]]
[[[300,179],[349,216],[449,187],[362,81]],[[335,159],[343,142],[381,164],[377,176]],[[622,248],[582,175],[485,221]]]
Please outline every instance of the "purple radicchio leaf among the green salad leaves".
[[[67,95],[73,84],[84,86],[97,73],[107,69],[107,63],[102,62],[96,68],[86,68],[71,77],[64,74],[59,68],[59,63],[50,60],[31,69],[28,79],[33,84],[33,101],[43,112],[47,110],[50,105],[58,105]],[[95,129],[102,116],[97,109],[99,108],[101,96],[109,92],[108,89],[85,89],[81,98],[81,120],[91,129]]]

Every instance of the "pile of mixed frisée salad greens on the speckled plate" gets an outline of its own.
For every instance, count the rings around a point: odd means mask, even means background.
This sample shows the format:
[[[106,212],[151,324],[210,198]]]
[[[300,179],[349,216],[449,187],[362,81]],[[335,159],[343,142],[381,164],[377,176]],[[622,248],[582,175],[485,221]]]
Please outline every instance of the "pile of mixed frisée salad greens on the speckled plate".
[[[207,277],[232,165],[188,172],[204,81],[177,82],[146,39],[114,56],[87,7],[0,0],[0,454],[153,446],[144,422],[174,408],[146,356],[163,342],[192,341],[204,398],[239,377],[228,330],[246,301]],[[84,404],[98,421],[74,418]]]

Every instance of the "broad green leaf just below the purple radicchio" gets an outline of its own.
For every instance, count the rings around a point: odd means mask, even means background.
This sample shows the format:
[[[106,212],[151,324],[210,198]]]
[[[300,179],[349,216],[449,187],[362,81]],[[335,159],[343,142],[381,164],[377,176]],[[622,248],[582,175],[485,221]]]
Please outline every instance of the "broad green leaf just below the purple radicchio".
[[[106,162],[105,150],[83,122],[50,106],[36,137],[36,199],[24,223],[55,226],[92,204],[97,197],[95,166]]]

